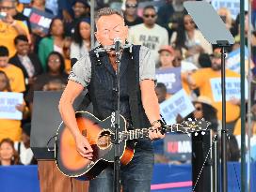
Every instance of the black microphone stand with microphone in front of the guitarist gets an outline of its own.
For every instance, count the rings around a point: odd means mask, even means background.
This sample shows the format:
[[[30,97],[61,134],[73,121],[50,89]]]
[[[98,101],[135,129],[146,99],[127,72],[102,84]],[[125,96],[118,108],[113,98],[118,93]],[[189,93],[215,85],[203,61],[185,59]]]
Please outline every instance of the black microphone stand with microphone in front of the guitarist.
[[[115,140],[114,140],[114,192],[120,192],[120,49],[116,50],[117,82],[115,91],[118,95],[118,104],[115,111]]]

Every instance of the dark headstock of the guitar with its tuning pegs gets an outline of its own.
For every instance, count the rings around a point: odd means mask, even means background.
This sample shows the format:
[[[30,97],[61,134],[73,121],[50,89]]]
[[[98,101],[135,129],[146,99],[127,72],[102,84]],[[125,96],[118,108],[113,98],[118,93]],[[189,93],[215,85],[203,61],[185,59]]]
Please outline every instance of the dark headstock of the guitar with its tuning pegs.
[[[199,131],[205,131],[208,129],[211,123],[205,121],[204,119],[195,120],[188,119],[188,121],[183,121],[180,124],[174,124],[171,126],[171,131],[183,132],[183,133],[194,133]]]

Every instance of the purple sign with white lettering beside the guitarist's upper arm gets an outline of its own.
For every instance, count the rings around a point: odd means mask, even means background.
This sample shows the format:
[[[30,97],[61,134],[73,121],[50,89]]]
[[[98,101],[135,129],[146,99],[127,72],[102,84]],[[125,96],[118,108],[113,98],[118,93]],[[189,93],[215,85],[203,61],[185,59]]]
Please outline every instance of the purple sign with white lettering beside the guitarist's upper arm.
[[[181,67],[160,68],[155,71],[157,82],[163,82],[168,90],[168,94],[175,94],[182,87]]]

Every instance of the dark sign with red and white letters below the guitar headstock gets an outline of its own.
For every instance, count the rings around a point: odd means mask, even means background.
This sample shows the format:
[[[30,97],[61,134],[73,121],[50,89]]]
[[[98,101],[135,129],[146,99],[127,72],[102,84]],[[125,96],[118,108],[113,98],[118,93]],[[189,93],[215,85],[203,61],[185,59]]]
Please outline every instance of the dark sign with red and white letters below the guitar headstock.
[[[167,134],[164,139],[164,154],[169,160],[191,160],[192,143],[186,134]]]

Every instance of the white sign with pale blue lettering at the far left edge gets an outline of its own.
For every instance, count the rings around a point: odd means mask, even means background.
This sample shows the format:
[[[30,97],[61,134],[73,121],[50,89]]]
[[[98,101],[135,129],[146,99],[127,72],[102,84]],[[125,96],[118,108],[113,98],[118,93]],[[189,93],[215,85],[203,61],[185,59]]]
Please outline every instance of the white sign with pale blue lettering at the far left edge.
[[[24,95],[13,92],[0,92],[0,119],[23,119],[23,113],[16,110],[16,105],[24,102]]]

